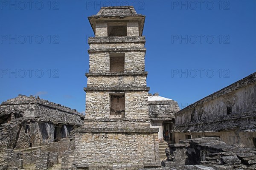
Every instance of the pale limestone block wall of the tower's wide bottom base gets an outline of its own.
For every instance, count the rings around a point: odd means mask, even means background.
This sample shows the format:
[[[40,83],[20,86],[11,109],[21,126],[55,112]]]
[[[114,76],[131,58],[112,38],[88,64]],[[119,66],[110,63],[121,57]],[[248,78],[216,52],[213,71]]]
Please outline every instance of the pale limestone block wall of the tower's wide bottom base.
[[[76,133],[75,160],[82,163],[155,162],[157,133]],[[108,154],[106,154],[108,153]],[[158,153],[159,156],[159,153]]]

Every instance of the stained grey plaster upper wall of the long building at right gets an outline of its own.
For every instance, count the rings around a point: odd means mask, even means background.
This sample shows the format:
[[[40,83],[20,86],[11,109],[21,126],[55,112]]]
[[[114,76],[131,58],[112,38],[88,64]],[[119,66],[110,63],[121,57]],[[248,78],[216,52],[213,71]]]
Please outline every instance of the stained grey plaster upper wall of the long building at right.
[[[207,96],[207,99],[202,99],[175,113],[175,125],[226,116],[227,107],[231,108],[232,113],[242,114],[256,111],[255,77],[254,74],[242,82],[236,82]],[[246,82],[251,82],[251,84],[247,85]]]

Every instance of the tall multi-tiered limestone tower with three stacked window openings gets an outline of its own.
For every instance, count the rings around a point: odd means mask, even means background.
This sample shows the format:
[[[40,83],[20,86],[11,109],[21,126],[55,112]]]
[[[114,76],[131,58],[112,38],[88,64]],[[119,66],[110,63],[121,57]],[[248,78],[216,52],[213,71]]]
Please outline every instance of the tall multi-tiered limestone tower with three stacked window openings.
[[[90,37],[83,127],[76,130],[80,163],[138,168],[159,165],[158,129],[150,128],[145,72],[145,16],[132,6],[102,7],[88,17]]]

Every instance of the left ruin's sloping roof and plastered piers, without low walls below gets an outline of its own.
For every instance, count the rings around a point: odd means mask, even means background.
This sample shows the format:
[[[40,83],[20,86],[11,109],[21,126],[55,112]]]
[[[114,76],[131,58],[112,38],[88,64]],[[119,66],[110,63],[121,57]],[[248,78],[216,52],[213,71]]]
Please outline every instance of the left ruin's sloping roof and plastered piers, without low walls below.
[[[4,152],[53,142],[55,126],[58,139],[67,137],[74,126],[82,125],[84,116],[39,97],[19,95],[0,105],[0,117],[0,152]]]

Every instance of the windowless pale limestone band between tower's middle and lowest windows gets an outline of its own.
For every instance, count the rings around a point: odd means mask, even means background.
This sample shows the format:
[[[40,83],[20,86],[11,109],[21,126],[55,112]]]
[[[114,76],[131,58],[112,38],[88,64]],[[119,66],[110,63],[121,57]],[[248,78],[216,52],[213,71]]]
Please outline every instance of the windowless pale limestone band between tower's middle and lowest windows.
[[[87,78],[87,87],[146,87],[146,85],[146,77],[144,75]]]

